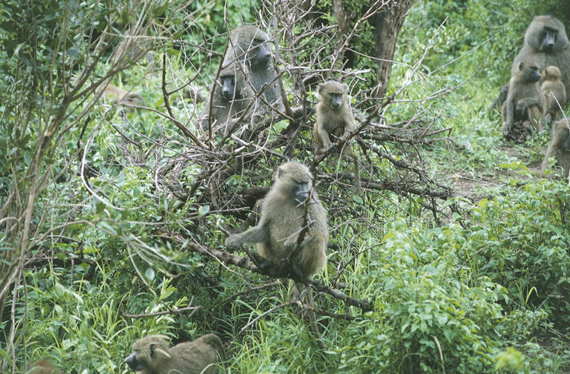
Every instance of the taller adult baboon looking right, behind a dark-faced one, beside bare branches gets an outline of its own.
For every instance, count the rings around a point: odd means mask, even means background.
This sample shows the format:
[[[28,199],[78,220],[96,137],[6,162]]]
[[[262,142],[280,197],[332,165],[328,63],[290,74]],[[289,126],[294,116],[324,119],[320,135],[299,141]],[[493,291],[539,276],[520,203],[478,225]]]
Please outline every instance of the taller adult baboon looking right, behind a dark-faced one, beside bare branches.
[[[228,43],[228,52],[223,58],[224,65],[234,61],[240,63],[255,92],[263,90],[267,103],[283,110],[269,35],[253,25],[242,26],[230,33]]]

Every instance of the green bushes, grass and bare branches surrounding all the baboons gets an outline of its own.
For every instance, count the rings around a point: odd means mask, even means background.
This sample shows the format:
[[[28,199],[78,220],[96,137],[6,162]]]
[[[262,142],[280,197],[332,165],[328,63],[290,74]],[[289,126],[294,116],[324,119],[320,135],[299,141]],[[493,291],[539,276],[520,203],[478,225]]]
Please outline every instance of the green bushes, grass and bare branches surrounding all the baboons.
[[[555,0],[3,1],[0,371],[129,373],[142,336],[210,332],[228,373],[570,371],[570,187],[537,177],[548,129],[515,145],[487,111],[541,14],[570,28]],[[244,23],[276,42],[285,108],[200,129]],[[360,191],[351,160],[314,152],[331,79]],[[223,245],[287,159],[328,211],[314,282]]]

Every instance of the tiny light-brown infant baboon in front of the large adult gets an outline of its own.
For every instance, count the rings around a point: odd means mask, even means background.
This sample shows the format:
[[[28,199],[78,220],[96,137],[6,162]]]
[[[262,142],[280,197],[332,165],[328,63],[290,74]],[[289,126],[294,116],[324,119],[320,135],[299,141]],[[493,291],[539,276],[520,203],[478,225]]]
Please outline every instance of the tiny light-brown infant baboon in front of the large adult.
[[[544,95],[544,115],[541,117],[541,128],[544,128],[544,124],[556,122],[560,107],[566,103],[566,89],[560,81],[558,67],[551,65],[544,68],[540,89]]]

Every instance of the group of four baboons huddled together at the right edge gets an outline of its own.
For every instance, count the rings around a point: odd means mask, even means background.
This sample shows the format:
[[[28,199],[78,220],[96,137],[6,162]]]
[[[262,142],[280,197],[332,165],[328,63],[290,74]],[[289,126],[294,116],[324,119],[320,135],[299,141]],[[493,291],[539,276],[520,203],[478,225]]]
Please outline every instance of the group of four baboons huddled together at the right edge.
[[[511,74],[491,106],[501,108],[503,136],[516,139],[521,129],[539,132],[551,125],[540,175],[546,174],[548,158],[555,157],[562,176],[569,177],[570,121],[563,107],[570,89],[570,42],[559,19],[551,15],[532,19]]]

